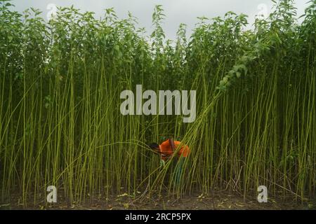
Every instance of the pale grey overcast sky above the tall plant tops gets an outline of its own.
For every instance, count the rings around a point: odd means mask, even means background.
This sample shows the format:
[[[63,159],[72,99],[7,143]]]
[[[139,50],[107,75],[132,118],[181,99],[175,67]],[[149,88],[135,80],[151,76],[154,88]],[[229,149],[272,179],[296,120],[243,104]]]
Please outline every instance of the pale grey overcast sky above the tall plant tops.
[[[295,0],[298,15],[302,15],[308,0]],[[175,38],[180,23],[187,25],[187,33],[197,23],[197,17],[214,18],[223,16],[228,11],[249,15],[249,24],[254,22],[255,15],[270,13],[272,1],[270,0],[13,0],[15,10],[22,12],[29,7],[39,8],[47,17],[51,8],[55,6],[71,6],[81,10],[93,11],[96,17],[104,14],[105,8],[114,8],[119,18],[126,18],[130,11],[138,18],[139,26],[145,27],[148,34],[152,31],[152,12],[154,6],[160,4],[164,8],[166,19],[164,31],[166,38]]]

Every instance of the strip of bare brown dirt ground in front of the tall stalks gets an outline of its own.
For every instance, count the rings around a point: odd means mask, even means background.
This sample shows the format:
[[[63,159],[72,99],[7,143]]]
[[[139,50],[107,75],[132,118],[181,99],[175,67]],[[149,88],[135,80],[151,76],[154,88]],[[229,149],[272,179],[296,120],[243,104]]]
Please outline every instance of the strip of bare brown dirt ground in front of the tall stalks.
[[[128,194],[117,195],[116,197],[105,198],[101,195],[98,199],[88,200],[86,202],[65,202],[62,197],[58,197],[58,202],[47,204],[46,202],[34,204],[30,201],[27,207],[20,204],[20,197],[11,197],[11,202],[1,203],[0,209],[105,209],[105,210],[120,210],[120,209],[192,209],[192,210],[223,210],[223,209],[316,209],[315,202],[294,202],[291,200],[277,200],[269,197],[267,203],[259,203],[254,198],[244,200],[239,195],[230,193],[213,193],[213,197],[209,195],[191,195],[180,199],[172,197],[131,197]],[[95,197],[96,198],[96,197]]]

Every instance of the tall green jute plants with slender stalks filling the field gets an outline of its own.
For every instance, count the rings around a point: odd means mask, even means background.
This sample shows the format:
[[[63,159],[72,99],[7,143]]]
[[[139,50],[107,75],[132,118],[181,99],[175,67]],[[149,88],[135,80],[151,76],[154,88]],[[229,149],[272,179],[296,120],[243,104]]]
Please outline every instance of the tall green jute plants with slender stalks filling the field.
[[[1,200],[27,205],[55,185],[67,200],[212,188],[303,200],[316,186],[315,0],[297,24],[293,1],[244,31],[246,15],[199,18],[186,37],[165,39],[162,6],[147,39],[129,14],[102,20],[72,7],[46,23],[0,1]],[[122,90],[197,90],[197,120],[122,116]],[[173,136],[190,146],[180,184],[177,166],[145,143]],[[40,196],[41,194],[41,196]]]

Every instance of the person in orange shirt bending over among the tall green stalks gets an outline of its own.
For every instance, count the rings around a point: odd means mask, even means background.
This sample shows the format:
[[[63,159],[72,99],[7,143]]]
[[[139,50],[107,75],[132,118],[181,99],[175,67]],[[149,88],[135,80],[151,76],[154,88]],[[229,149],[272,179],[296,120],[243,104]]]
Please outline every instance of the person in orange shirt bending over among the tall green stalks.
[[[172,138],[167,139],[162,142],[162,144],[152,143],[150,144],[150,148],[154,151],[154,153],[160,154],[160,167],[164,167],[166,160],[169,160],[173,153],[176,153],[178,146],[180,146],[180,141],[174,141]],[[183,165],[185,162],[185,158],[190,153],[190,148],[187,146],[181,146],[178,150],[178,165],[176,167],[176,184],[180,183],[181,174],[183,172]]]

